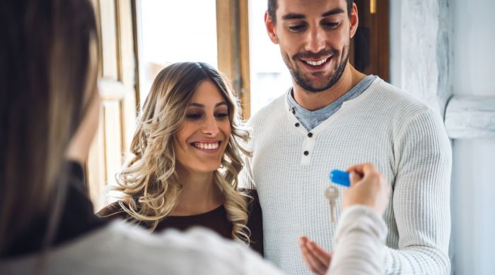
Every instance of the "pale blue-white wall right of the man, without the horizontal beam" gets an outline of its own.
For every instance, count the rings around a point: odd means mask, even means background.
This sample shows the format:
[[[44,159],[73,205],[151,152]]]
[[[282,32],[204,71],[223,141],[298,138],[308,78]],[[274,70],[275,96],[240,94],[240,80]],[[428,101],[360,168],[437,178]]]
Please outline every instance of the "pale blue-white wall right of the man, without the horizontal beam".
[[[494,27],[493,0],[390,0],[391,83],[439,111],[450,94],[495,97]],[[495,274],[494,139],[453,140],[451,189],[452,273]]]

